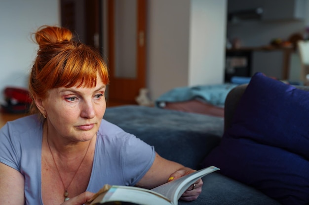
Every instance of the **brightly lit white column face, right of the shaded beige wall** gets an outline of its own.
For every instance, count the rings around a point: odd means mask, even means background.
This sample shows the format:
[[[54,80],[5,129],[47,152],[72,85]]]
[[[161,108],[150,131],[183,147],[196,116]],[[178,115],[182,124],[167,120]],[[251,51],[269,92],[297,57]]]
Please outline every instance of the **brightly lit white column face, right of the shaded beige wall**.
[[[192,0],[189,86],[224,81],[226,0]]]

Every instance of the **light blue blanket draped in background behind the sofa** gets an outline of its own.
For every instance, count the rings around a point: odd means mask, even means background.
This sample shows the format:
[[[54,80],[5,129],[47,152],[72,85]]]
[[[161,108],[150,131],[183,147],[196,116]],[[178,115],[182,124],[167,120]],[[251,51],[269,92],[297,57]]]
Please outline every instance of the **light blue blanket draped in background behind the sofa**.
[[[232,88],[239,84],[220,84],[208,86],[179,87],[165,92],[155,100],[156,107],[165,102],[184,102],[193,99],[223,107],[225,99]]]

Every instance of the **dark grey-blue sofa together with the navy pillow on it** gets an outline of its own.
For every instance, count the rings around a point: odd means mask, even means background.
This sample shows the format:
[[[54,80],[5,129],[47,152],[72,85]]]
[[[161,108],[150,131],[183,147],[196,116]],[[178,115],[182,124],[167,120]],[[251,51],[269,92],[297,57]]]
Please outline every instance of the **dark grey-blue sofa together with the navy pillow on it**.
[[[196,201],[180,205],[309,205],[308,90],[256,73],[229,92],[224,118],[122,106],[105,119],[167,159],[221,169],[203,177]]]

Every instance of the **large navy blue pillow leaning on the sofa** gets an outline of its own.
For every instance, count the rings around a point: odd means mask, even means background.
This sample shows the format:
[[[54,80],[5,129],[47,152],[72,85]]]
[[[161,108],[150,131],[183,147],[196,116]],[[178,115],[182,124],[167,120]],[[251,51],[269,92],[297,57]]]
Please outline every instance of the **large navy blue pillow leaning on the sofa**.
[[[309,92],[256,73],[205,159],[283,205],[309,204]]]

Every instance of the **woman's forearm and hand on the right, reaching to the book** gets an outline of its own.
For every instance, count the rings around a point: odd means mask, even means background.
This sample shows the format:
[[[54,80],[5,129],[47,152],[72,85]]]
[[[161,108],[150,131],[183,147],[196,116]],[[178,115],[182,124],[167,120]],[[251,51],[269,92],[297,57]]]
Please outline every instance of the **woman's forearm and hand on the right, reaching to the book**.
[[[168,182],[169,180],[174,180],[193,172],[195,172],[195,170],[185,167],[177,162],[164,159],[156,153],[152,167],[136,184],[136,186],[152,189]],[[203,181],[202,179],[198,179],[194,184],[194,187],[190,186],[182,195],[182,200],[193,201],[199,196],[202,191]]]

